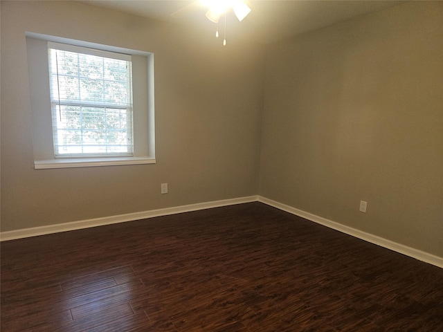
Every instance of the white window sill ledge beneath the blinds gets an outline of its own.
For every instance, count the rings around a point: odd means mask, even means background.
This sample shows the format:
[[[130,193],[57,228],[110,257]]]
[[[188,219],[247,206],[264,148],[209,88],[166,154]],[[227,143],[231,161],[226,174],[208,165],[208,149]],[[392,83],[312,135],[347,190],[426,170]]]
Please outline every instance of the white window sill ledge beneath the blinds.
[[[35,160],[34,169],[98,167],[118,165],[155,164],[155,158],[150,157],[122,157],[122,158],[67,158]]]

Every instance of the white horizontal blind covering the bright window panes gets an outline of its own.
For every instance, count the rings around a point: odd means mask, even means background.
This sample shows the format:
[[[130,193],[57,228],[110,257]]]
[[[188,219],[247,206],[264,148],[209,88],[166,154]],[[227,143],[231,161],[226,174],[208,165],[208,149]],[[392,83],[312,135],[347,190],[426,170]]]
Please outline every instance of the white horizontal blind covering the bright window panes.
[[[48,42],[56,158],[132,156],[131,56]]]

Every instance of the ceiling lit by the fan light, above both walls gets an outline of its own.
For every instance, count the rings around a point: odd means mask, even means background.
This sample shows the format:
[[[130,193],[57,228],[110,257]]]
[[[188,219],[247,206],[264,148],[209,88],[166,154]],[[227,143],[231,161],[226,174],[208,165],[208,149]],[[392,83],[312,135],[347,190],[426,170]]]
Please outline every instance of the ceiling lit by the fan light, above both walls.
[[[201,1],[170,0],[84,0],[93,6],[113,8],[129,14],[166,21],[215,35],[217,25],[206,16]],[[252,8],[242,21],[233,12],[226,18],[226,39],[241,38],[260,44],[271,44],[339,21],[396,6],[403,1],[338,1],[338,0],[245,0]],[[221,19],[223,36],[224,19]]]

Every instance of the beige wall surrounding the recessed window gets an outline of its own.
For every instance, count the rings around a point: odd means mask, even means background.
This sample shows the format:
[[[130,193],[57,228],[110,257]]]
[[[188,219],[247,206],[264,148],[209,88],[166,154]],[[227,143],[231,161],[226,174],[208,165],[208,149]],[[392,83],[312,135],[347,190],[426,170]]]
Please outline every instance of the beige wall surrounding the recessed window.
[[[154,53],[155,165],[33,169],[26,31]],[[257,194],[263,48],[212,35],[83,3],[1,1],[1,231]]]

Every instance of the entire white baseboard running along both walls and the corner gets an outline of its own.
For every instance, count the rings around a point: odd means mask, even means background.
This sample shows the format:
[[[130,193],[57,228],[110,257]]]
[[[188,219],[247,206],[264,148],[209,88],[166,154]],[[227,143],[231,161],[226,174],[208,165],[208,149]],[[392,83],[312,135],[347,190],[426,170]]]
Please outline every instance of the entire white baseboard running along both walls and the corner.
[[[370,243],[374,243],[377,246],[381,246],[383,248],[387,248],[396,252],[399,252],[403,255],[413,257],[418,259],[419,261],[424,261],[428,264],[432,264],[443,268],[443,257],[438,257],[428,252],[424,252],[422,250],[418,250],[415,248],[410,248],[408,246],[404,246],[403,244],[390,241],[388,239],[383,239],[383,237],[377,237],[377,235],[370,234],[367,232],[363,232],[361,230],[356,230],[355,228],[351,228],[349,226],[343,225],[341,223],[336,223],[335,221],[331,221],[329,219],[325,219],[321,216],[316,216],[315,214],[311,214],[309,212],[305,212],[302,210],[298,210],[296,208],[292,208],[289,205],[285,205],[279,203],[277,201],[273,201],[271,199],[266,199],[266,197],[262,196],[246,196],[240,197],[237,199],[225,199],[221,201],[211,201],[190,205],[181,205],[173,208],[164,208],[158,210],[149,210],[143,212],[134,212],[129,214],[120,214],[117,216],[105,216],[102,218],[96,219],[88,219],[82,221],[73,221],[70,223],[59,223],[56,225],[46,225],[41,227],[34,228],[24,228],[22,230],[11,230],[8,232],[0,232],[0,241],[8,241],[14,239],[22,239],[25,237],[36,237],[38,235],[52,234],[58,232],[66,232],[69,230],[80,230],[82,228],[91,228],[102,225],[110,225],[112,223],[124,223],[126,221],[135,221],[140,219],[148,219],[153,218],[155,216],[167,216],[170,214],[177,214],[182,212],[191,212],[197,210],[204,210],[210,208],[218,208],[220,206],[227,205],[235,205],[241,203],[250,203],[259,201],[266,205],[273,206],[274,208],[278,208],[279,210],[283,210],[289,212],[291,214],[295,214],[296,216],[300,216],[309,221],[314,221],[314,223],[319,223],[321,225],[325,225],[328,228],[332,228],[334,230],[338,230],[339,232],[343,232],[345,234],[349,234],[352,237],[356,237],[358,239],[362,239],[368,241]]]

